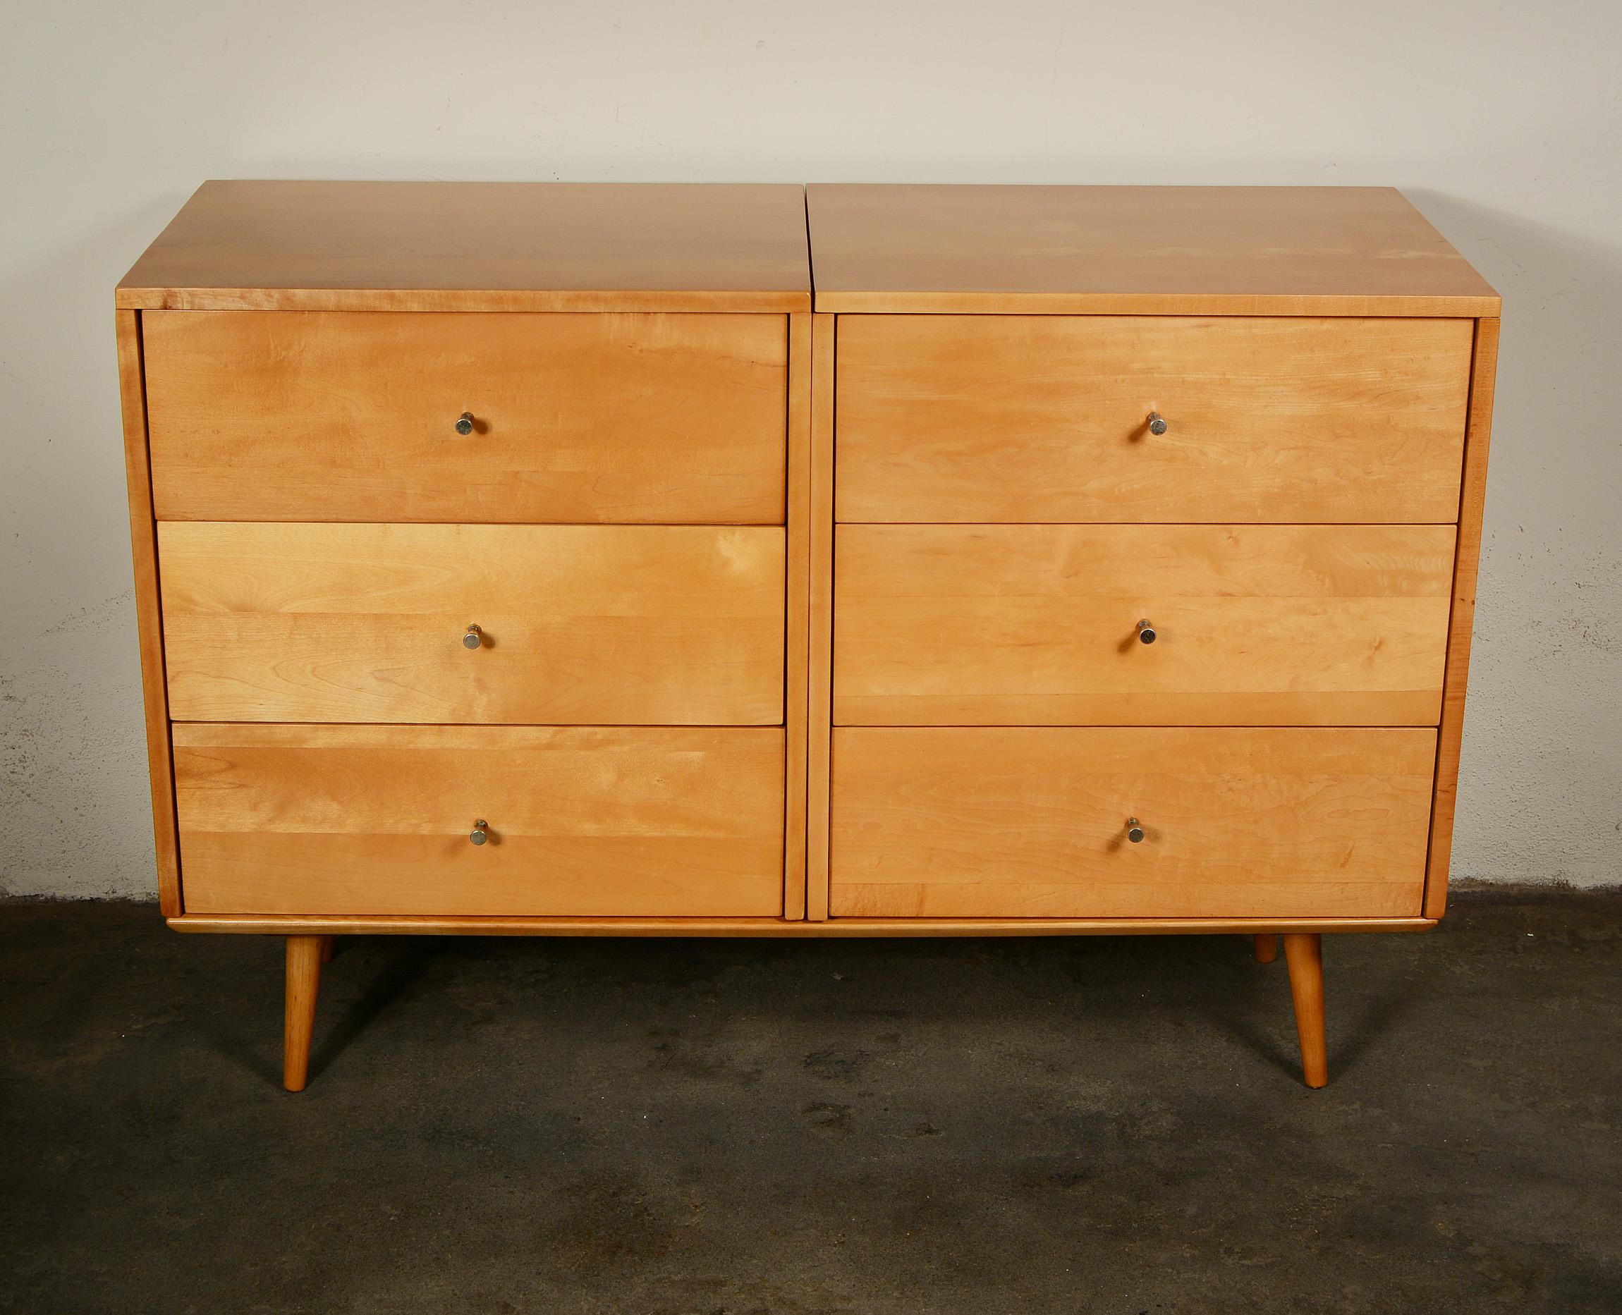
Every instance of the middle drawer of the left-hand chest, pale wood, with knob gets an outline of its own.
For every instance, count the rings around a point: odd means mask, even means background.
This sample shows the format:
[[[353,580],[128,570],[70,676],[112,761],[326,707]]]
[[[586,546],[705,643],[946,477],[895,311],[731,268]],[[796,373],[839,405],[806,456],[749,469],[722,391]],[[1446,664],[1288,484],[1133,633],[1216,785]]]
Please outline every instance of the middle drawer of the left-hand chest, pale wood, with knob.
[[[779,527],[170,520],[157,553],[180,722],[783,720]]]

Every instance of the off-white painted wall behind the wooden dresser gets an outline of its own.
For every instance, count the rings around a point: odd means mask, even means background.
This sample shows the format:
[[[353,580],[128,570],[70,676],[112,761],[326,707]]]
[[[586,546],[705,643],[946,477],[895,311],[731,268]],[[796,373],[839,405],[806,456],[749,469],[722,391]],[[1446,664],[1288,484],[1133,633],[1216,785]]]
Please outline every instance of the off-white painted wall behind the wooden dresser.
[[[1622,880],[1616,0],[0,0],[0,890],[152,889],[112,285],[203,178],[1395,183],[1504,293],[1455,877]]]

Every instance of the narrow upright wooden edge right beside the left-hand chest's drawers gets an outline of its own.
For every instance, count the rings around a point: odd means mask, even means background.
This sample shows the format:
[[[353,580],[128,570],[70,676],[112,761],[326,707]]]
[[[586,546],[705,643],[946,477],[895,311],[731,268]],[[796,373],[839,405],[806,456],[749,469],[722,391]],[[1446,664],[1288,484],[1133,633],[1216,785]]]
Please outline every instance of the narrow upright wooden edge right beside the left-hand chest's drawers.
[[[811,316],[788,316],[788,634],[783,726],[783,916],[806,916],[806,738],[811,697]]]

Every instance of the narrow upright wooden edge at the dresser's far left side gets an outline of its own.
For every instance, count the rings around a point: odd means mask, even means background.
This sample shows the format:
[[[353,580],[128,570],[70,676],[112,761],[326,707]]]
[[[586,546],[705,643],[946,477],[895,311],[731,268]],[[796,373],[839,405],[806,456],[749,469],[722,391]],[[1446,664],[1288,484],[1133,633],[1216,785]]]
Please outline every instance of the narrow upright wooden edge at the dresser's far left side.
[[[157,529],[152,524],[152,482],[146,448],[141,316],[135,311],[117,311],[117,334],[123,469],[130,495],[130,558],[135,564],[135,631],[141,645],[146,773],[152,791],[152,846],[157,856],[157,905],[165,918],[175,918],[183,911],[183,903],[175,838],[175,785],[169,751],[164,623],[157,595]]]

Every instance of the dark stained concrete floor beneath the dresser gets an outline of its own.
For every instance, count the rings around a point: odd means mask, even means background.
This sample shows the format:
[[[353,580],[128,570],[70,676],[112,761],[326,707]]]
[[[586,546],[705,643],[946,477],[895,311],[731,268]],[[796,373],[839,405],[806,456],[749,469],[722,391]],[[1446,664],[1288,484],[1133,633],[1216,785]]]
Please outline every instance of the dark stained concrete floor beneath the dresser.
[[[1622,892],[1238,937],[281,942],[0,905],[0,1310],[1619,1312]]]

